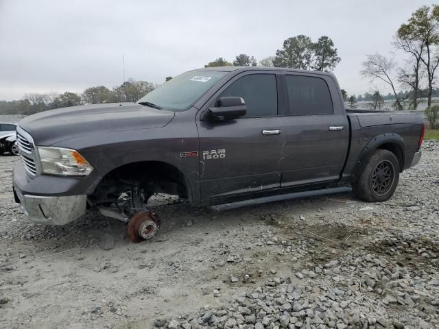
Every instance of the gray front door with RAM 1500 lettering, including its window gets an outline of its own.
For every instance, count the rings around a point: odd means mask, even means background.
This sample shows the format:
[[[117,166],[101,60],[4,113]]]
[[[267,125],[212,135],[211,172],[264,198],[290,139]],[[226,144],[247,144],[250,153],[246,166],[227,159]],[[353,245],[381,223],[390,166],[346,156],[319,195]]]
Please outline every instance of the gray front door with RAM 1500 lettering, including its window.
[[[230,121],[200,119],[221,96],[242,97],[246,116]],[[283,137],[276,132],[281,121],[274,72],[240,73],[220,88],[197,119],[202,199],[278,188]]]

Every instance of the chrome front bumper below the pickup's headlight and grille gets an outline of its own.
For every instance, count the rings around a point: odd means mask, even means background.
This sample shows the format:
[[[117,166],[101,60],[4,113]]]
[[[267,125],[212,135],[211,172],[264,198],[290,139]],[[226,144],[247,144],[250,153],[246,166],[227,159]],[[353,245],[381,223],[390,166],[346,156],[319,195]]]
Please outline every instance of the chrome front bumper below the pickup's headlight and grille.
[[[41,197],[23,195],[14,189],[20,206],[30,221],[45,225],[65,225],[86,212],[86,195],[67,197]]]

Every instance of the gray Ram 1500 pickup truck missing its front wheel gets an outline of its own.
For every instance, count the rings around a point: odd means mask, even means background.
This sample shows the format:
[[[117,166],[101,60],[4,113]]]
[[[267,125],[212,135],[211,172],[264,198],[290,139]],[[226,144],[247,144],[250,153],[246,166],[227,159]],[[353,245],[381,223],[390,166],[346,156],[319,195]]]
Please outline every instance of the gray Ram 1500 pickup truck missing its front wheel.
[[[225,208],[350,188],[385,201],[420,160],[423,132],[418,114],[345,110],[330,73],[197,69],[137,103],[21,120],[14,195],[36,223],[95,209],[126,221],[139,242],[160,226],[147,208],[154,193]]]

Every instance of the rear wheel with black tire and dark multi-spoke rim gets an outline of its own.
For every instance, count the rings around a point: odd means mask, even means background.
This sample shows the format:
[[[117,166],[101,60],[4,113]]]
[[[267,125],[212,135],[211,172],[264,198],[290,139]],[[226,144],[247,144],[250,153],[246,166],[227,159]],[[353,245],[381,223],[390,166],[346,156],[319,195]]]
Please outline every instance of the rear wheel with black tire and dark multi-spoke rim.
[[[352,184],[355,195],[367,202],[383,202],[392,197],[399,182],[399,162],[387,149],[377,149]]]

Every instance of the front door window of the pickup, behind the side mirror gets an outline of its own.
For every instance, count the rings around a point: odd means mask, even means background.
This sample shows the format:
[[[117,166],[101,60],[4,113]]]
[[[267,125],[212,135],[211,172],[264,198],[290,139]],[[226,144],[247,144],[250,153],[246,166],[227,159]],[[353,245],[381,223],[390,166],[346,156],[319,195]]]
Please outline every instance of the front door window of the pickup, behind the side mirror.
[[[274,74],[250,74],[230,84],[219,97],[242,97],[246,101],[245,117],[277,115],[277,87]]]

